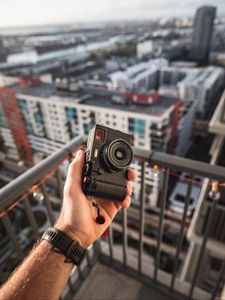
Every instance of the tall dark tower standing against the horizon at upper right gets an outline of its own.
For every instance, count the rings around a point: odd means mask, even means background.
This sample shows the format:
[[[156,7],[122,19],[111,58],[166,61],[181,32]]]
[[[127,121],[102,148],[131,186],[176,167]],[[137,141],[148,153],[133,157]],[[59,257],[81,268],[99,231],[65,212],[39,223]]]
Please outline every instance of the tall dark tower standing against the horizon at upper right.
[[[216,16],[216,7],[199,7],[195,14],[191,58],[200,64],[207,64],[209,59],[211,36]]]

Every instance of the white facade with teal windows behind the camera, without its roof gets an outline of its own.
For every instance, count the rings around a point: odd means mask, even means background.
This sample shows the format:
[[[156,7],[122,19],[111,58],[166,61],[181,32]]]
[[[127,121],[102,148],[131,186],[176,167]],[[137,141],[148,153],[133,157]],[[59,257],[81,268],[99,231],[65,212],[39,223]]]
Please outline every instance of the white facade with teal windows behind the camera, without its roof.
[[[94,106],[76,98],[26,94],[26,89],[24,93],[17,93],[16,99],[35,161],[37,157],[52,154],[78,135],[87,135],[95,123],[132,134],[134,147],[145,150],[166,152],[171,139],[174,105],[160,115],[149,115],[144,108],[142,112],[135,112],[129,107],[120,110]],[[2,137],[8,147],[15,148],[12,136],[10,140],[10,129],[4,128]],[[146,205],[157,206],[161,176],[150,167],[146,170],[146,186]],[[137,182],[134,199],[139,199],[139,193],[140,182]]]

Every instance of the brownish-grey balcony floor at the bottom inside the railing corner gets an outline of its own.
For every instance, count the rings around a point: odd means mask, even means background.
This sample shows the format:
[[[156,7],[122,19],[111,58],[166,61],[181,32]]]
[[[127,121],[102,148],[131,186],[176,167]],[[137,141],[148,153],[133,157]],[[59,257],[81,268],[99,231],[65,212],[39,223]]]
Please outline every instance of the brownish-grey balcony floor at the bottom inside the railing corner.
[[[125,274],[117,272],[101,263],[97,263],[73,300],[167,300],[165,294],[139,282]]]

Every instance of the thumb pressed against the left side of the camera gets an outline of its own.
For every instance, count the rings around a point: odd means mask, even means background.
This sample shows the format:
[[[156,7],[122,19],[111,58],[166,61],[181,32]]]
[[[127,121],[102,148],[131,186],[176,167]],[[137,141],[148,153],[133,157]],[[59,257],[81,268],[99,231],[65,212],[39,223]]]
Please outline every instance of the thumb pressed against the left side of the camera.
[[[73,185],[81,189],[82,172],[84,167],[84,151],[78,150],[76,156],[69,167],[69,175],[73,181]]]

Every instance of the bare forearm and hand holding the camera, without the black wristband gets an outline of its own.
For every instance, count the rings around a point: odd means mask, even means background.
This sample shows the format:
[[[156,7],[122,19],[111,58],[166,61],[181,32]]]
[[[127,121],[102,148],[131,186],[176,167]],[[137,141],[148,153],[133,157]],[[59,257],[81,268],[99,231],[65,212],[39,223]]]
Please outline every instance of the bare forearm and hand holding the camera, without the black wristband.
[[[87,248],[104,233],[120,208],[129,207],[132,186],[128,182],[127,196],[122,203],[96,199],[106,220],[99,225],[95,222],[96,208],[81,189],[83,165],[84,152],[80,150],[68,170],[62,210],[55,227]],[[129,170],[128,180],[135,178],[135,171]],[[47,241],[39,242],[3,285],[0,299],[58,299],[73,265],[65,263],[65,257],[51,249]]]

